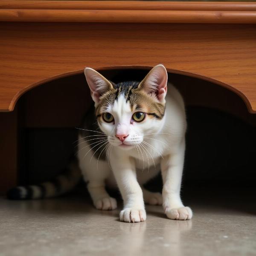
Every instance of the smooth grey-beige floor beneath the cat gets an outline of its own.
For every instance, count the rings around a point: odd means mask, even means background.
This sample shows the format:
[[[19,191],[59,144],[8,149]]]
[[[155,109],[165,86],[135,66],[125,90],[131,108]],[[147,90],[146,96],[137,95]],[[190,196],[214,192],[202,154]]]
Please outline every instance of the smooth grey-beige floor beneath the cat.
[[[169,220],[162,207],[147,206],[141,223],[122,223],[119,210],[98,211],[84,195],[1,198],[0,256],[256,255],[256,200],[247,195],[189,194],[191,221]]]

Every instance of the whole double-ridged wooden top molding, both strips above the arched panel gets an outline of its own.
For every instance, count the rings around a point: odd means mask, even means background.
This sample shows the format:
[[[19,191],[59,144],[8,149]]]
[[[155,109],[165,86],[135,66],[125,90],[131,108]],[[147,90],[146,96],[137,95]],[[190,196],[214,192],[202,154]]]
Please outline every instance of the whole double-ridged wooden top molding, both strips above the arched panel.
[[[256,23],[256,4],[142,1],[1,1],[0,21]]]

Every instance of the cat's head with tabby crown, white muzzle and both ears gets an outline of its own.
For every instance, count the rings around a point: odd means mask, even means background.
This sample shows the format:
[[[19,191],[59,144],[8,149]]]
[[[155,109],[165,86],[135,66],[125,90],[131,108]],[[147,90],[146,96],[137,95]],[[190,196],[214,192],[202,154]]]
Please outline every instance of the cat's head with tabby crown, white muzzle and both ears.
[[[88,67],[84,74],[99,127],[111,145],[131,149],[163,127],[168,78],[163,65],[151,69],[141,82],[114,84]]]

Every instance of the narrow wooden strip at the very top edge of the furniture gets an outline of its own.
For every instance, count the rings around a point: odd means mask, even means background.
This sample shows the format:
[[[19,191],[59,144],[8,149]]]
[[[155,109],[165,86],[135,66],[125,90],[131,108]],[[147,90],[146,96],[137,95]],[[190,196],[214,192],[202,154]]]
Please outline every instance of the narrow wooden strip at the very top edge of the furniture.
[[[255,2],[1,0],[0,9],[253,11]]]

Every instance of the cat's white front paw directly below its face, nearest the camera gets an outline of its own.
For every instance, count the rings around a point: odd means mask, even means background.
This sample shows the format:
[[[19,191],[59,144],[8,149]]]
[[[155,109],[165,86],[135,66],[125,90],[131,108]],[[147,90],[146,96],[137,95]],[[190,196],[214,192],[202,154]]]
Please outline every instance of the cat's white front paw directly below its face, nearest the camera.
[[[146,220],[144,209],[125,208],[120,212],[120,221],[140,222]]]

